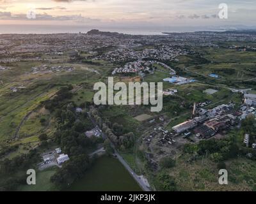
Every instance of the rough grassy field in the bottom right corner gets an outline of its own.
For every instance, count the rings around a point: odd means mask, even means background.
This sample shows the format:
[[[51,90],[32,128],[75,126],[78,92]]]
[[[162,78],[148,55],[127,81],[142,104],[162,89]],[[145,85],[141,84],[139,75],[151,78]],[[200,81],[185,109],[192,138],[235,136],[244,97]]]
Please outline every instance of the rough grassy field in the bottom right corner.
[[[228,185],[218,183],[217,164],[210,159],[186,163],[179,157],[176,166],[170,169],[179,191],[252,191],[255,190],[256,164],[250,159],[230,159],[225,162],[228,170]]]

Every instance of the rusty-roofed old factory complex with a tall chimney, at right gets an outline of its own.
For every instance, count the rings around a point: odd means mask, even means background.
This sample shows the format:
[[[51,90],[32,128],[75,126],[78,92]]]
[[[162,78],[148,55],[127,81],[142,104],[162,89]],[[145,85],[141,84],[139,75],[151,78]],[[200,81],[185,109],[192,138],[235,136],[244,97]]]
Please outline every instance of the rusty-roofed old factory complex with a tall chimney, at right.
[[[207,103],[205,103],[207,105]],[[194,117],[191,120],[182,122],[177,126],[173,126],[172,129],[179,135],[180,133],[188,132],[193,129],[196,136],[203,138],[210,138],[216,135],[219,131],[225,130],[230,126],[236,125],[239,121],[246,119],[248,115],[256,116],[256,94],[244,94],[244,105],[240,110],[234,111],[234,104],[228,103],[216,106],[211,110],[205,110],[202,108],[204,103],[200,106],[194,107]],[[200,107],[200,108],[199,108]]]

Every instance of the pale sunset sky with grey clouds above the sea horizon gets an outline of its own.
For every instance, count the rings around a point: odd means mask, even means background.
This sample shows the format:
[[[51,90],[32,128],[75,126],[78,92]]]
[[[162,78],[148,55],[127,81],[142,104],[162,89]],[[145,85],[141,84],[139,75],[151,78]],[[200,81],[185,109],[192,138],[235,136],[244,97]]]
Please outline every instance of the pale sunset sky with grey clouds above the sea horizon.
[[[218,18],[220,3],[228,5],[227,20]],[[26,18],[31,8],[36,19]],[[255,0],[0,0],[0,26],[254,26],[255,20]]]

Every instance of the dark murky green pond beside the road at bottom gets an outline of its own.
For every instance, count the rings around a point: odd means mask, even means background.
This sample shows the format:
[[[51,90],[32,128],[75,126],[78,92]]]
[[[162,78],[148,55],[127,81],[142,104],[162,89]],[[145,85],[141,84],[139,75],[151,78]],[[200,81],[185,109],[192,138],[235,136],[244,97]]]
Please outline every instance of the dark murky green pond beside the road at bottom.
[[[113,157],[97,159],[82,179],[77,180],[68,191],[141,191],[124,166]]]

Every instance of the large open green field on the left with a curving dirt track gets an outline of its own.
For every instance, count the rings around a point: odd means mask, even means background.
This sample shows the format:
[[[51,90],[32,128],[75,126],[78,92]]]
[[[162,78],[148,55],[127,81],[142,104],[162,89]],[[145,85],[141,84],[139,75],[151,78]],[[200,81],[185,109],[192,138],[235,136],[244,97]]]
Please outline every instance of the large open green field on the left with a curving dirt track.
[[[93,84],[102,80],[102,76],[112,68],[111,65],[95,66],[63,61],[52,62],[51,66],[74,66],[75,70],[31,73],[32,67],[41,64],[47,63],[13,62],[10,64],[11,69],[1,72],[3,84],[0,85],[0,143],[20,143],[23,146],[27,144],[27,147],[24,147],[26,150],[20,147],[17,152],[27,152],[35,147],[38,136],[42,133],[52,135],[54,120],[50,113],[42,112],[42,101],[52,98],[60,87],[71,84],[74,86],[74,96],[70,101],[77,105],[86,101],[91,102]],[[13,92],[12,87],[24,88]],[[41,120],[44,120],[44,123]],[[28,141],[24,142],[26,138]],[[31,144],[31,147],[28,144]]]

